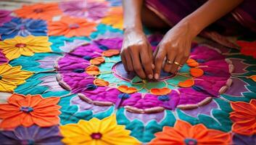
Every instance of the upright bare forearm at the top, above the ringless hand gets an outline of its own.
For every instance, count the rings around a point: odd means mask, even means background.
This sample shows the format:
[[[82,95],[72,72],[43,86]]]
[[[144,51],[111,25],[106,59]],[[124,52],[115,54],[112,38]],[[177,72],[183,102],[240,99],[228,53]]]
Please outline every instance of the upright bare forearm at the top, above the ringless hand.
[[[127,29],[142,30],[141,7],[143,0],[123,0],[123,27]]]

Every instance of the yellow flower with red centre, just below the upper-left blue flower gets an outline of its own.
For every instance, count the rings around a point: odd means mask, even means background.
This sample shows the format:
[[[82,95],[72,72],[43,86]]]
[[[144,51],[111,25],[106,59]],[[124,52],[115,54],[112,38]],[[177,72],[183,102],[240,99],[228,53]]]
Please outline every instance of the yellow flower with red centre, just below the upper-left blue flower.
[[[50,45],[47,36],[16,36],[0,41],[0,49],[9,60],[16,59],[20,55],[32,56],[35,52],[50,52]]]

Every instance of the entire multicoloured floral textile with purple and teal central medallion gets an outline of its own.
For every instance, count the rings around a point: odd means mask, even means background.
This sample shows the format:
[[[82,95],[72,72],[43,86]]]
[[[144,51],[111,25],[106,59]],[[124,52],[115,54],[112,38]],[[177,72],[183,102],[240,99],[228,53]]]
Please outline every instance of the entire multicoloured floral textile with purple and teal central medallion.
[[[197,38],[177,74],[141,80],[120,61],[120,4],[0,11],[1,143],[254,144],[256,40]],[[154,50],[163,34],[146,36]]]

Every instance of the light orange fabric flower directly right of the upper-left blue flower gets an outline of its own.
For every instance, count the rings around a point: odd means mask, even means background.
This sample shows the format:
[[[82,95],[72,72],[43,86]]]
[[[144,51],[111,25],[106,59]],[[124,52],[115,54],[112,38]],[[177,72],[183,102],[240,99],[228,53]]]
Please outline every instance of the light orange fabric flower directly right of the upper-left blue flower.
[[[89,36],[96,30],[96,23],[86,19],[62,17],[57,22],[49,22],[49,36]]]

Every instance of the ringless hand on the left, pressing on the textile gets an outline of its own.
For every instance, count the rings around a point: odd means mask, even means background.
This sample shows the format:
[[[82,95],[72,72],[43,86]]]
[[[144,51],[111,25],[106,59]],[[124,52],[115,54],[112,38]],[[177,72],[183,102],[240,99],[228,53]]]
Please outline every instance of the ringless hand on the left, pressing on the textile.
[[[125,29],[120,53],[127,72],[136,72],[140,78],[153,78],[152,48],[142,30]]]

